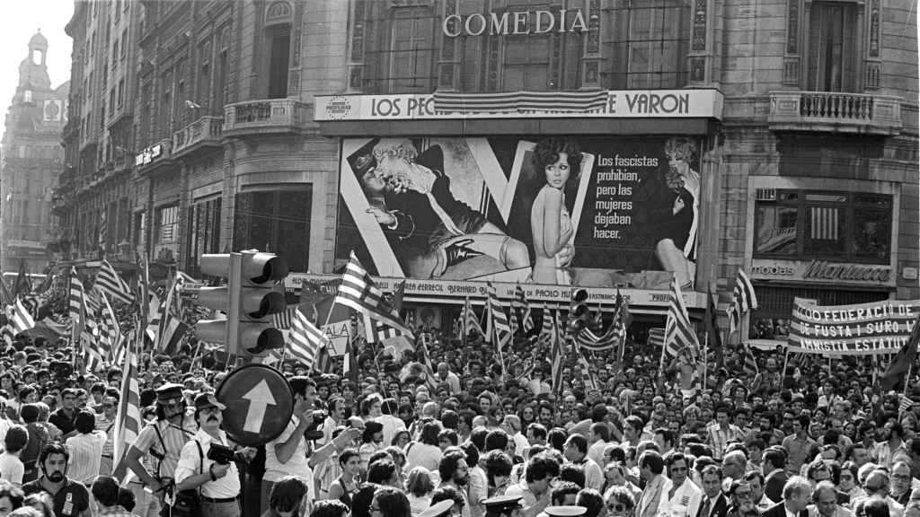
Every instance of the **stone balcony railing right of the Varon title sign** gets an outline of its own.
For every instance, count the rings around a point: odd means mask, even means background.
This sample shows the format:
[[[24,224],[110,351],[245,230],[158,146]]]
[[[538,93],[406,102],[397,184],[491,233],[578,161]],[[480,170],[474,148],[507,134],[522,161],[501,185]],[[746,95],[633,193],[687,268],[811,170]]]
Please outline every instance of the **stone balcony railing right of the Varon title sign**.
[[[841,92],[772,92],[770,129],[893,135],[901,132],[901,102]]]

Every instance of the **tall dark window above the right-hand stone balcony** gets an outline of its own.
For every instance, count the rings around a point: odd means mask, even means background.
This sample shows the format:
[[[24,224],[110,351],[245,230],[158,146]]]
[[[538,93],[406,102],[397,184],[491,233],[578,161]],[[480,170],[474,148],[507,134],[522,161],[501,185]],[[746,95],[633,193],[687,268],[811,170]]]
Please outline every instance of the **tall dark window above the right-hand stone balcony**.
[[[809,19],[808,89],[857,90],[857,4],[813,2]]]

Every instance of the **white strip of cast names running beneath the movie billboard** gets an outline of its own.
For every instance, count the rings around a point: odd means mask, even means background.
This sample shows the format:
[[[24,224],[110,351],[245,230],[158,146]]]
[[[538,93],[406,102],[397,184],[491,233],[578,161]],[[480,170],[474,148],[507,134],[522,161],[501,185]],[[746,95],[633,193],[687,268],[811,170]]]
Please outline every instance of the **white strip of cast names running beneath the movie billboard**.
[[[339,275],[320,275],[314,273],[291,273],[285,279],[285,285],[295,289],[305,282],[331,285],[341,278]],[[457,304],[462,304],[466,297],[476,304],[482,304],[486,298],[488,284],[484,281],[447,281],[447,280],[412,280],[397,278],[373,277],[377,286],[385,293],[393,293],[402,281],[406,281],[406,296],[410,298],[441,298],[452,299]],[[502,300],[510,300],[514,296],[516,283],[492,282],[496,293]],[[520,284],[524,296],[533,304],[568,304],[572,293],[578,289],[588,292],[588,304],[615,304],[615,289],[600,287],[568,287],[559,285]],[[667,291],[653,291],[646,289],[621,289],[619,293],[630,305],[661,306],[667,307],[670,294]],[[706,294],[686,291],[684,304],[688,308],[706,308]],[[329,334],[330,331],[327,331]],[[335,336],[344,336],[341,328],[337,327]],[[332,335],[330,334],[330,337]]]

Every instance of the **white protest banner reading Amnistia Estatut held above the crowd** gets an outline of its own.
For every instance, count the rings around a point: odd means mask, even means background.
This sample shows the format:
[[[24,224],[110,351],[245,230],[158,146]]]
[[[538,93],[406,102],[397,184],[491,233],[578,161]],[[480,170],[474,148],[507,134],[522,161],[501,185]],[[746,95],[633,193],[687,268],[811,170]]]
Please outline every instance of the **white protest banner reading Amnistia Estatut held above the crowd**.
[[[789,351],[873,355],[896,353],[907,343],[920,312],[920,300],[871,304],[814,305],[796,302]]]

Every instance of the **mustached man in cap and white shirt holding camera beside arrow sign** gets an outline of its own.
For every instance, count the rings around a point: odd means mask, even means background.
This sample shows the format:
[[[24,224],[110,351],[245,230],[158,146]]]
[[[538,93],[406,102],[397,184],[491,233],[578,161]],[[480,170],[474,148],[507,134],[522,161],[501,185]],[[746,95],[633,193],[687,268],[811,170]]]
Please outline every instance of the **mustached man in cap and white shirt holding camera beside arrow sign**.
[[[201,516],[238,517],[239,472],[234,451],[221,430],[226,409],[212,393],[195,398],[198,432],[182,447],[176,466],[176,489],[201,489]]]

